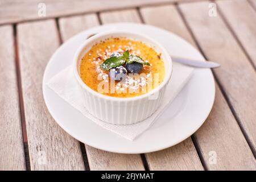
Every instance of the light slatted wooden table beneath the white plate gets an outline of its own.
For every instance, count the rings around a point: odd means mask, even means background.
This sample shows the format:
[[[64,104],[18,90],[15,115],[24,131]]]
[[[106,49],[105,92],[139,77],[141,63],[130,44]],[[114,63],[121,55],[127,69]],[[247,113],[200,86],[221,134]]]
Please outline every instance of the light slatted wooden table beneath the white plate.
[[[0,2],[1,170],[256,169],[256,0],[212,1],[217,16],[203,0],[48,0],[46,16],[38,15],[39,2]],[[207,121],[176,146],[141,155],[101,151],[49,114],[42,96],[49,57],[78,32],[112,22],[162,27],[221,64]]]

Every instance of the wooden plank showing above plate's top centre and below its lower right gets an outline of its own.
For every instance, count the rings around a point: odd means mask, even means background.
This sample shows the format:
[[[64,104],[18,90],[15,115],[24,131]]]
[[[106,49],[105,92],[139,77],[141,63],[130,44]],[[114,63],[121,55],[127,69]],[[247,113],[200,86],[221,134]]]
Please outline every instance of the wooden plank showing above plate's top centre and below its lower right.
[[[112,16],[115,16],[115,19],[113,19]],[[100,17],[103,23],[113,23],[113,22],[139,23],[141,22],[141,19],[139,18],[139,14],[135,10],[101,13]],[[179,152],[174,152],[174,151],[179,151]],[[199,157],[197,156],[196,149],[193,146],[192,140],[190,138],[185,140],[185,142],[180,143],[177,146],[167,148],[166,150],[163,150],[160,152],[153,152],[151,154],[146,154],[146,158],[147,158],[148,166],[152,170],[155,170],[155,169],[162,169],[162,170],[203,169],[203,166],[200,163]],[[187,161],[187,163],[184,163],[184,161]]]

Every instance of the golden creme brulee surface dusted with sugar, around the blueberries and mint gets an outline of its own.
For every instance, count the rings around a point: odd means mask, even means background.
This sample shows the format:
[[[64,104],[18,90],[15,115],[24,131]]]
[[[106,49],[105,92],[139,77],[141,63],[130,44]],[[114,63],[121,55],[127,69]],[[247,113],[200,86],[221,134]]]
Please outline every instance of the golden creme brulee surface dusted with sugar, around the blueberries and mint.
[[[127,77],[121,81],[113,81],[109,76],[110,70],[103,69],[101,64],[113,52],[122,54],[125,51],[129,51],[130,55],[141,57],[150,65],[143,65],[141,71],[136,74],[128,72]],[[123,67],[125,65],[126,63]],[[150,92],[160,85],[164,80],[165,68],[161,55],[147,44],[127,38],[109,38],[92,46],[82,57],[80,76],[87,86],[106,96],[135,97]]]

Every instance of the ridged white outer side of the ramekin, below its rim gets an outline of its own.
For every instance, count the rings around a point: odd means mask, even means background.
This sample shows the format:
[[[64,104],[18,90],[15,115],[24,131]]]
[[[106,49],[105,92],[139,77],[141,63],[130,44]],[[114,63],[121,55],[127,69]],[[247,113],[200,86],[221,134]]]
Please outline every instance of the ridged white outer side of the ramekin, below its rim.
[[[148,97],[141,100],[105,100],[102,97],[87,92],[80,87],[82,102],[85,108],[94,117],[114,125],[131,125],[142,121],[158,109],[164,94],[163,87],[158,97],[150,100]]]

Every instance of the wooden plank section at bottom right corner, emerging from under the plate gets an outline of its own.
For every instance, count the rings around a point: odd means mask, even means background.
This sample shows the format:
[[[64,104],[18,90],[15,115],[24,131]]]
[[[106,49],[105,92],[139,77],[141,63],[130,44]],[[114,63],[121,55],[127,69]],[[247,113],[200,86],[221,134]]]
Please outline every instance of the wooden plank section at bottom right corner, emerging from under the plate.
[[[253,153],[217,85],[212,111],[194,136],[208,169],[256,170]]]

